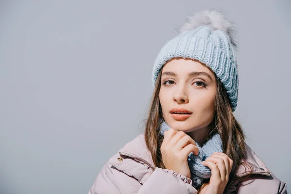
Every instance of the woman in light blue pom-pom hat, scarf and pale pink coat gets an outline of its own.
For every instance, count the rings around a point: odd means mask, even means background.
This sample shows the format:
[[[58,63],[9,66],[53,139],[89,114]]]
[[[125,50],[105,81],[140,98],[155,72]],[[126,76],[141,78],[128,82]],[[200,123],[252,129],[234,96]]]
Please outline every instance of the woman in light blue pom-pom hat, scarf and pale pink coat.
[[[101,169],[89,194],[283,194],[244,142],[235,111],[238,74],[233,28],[205,10],[189,17],[153,67],[145,134]]]

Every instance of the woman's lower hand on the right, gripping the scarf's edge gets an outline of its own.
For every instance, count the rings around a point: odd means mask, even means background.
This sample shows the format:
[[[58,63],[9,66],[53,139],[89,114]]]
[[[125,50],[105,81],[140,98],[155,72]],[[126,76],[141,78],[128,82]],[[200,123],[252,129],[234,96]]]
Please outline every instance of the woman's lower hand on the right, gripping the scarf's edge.
[[[225,153],[213,153],[203,165],[211,169],[210,182],[201,191],[201,194],[222,194],[228,182],[233,161]]]

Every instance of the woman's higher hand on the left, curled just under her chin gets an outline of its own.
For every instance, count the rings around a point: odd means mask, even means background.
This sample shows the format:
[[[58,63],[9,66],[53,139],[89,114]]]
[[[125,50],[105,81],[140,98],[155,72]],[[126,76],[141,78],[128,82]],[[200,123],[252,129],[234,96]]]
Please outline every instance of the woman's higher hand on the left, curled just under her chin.
[[[194,140],[183,131],[169,129],[164,132],[161,145],[162,162],[169,170],[190,178],[188,155],[193,152],[198,155],[198,147]]]

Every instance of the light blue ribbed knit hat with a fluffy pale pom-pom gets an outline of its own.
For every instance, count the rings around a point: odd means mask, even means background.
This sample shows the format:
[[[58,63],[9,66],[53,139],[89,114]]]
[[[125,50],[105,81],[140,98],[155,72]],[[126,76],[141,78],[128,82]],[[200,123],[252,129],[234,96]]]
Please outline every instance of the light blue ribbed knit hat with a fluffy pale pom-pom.
[[[238,72],[233,25],[223,12],[204,10],[186,20],[180,34],[168,41],[156,58],[153,86],[162,66],[172,58],[196,59],[207,65],[226,88],[234,112],[238,100]]]

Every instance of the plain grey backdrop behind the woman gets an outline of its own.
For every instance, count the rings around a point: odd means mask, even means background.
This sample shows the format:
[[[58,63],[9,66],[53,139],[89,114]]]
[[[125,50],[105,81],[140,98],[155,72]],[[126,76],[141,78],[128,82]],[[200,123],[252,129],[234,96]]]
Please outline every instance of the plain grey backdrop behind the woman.
[[[204,8],[236,23],[247,143],[291,192],[290,0],[0,1],[0,194],[85,194],[143,129],[151,68]]]

